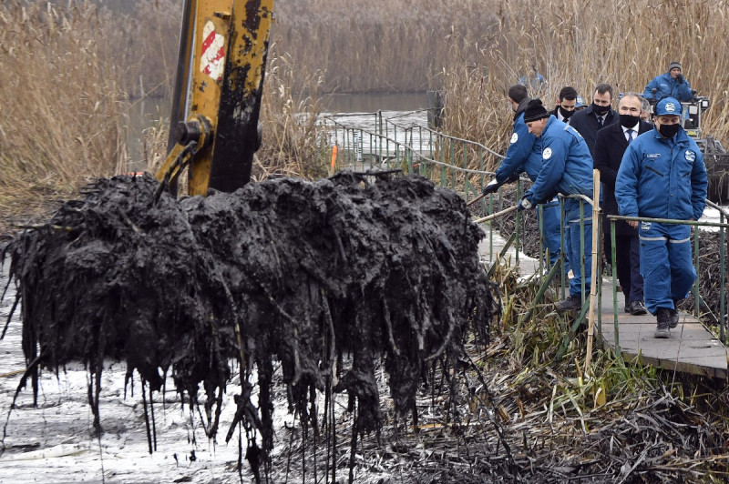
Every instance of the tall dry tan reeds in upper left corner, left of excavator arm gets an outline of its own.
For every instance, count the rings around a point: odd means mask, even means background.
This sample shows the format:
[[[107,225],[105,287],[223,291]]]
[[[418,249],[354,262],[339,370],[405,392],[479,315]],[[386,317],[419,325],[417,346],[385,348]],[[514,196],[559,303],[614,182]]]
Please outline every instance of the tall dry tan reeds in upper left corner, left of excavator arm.
[[[125,96],[91,5],[0,5],[0,217],[125,169]]]

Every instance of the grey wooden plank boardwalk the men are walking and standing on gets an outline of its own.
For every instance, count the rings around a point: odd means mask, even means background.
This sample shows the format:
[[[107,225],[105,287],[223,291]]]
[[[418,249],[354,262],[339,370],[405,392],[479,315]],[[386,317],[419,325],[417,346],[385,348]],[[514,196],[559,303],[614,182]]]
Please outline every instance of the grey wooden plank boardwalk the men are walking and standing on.
[[[488,234],[488,226],[481,226]],[[503,249],[505,241],[495,232],[493,235],[493,258],[497,258]],[[485,237],[479,248],[482,260],[490,260],[491,247],[488,237]],[[510,247],[505,258],[515,260],[515,252]],[[519,255],[519,273],[528,277],[539,272],[539,260]],[[621,291],[618,291],[618,344],[621,355],[626,361],[649,365],[657,368],[675,370],[682,373],[691,373],[711,378],[726,380],[727,349],[718,338],[703,326],[692,315],[680,312],[678,327],[671,330],[671,338],[653,338],[656,328],[655,317],[651,314],[645,316],[632,316],[623,308],[625,302]],[[597,325],[597,322],[596,322]],[[599,332],[601,329],[601,332]],[[601,325],[596,326],[596,346],[600,343],[615,349],[616,334],[612,306],[612,281],[602,278],[602,304]]]

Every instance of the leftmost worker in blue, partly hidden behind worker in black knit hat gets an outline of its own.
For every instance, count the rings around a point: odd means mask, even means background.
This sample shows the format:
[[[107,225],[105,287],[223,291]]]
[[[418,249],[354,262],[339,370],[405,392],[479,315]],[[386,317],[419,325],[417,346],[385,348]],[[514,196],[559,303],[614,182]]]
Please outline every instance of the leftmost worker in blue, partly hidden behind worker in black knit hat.
[[[515,85],[508,88],[508,102],[514,111],[514,130],[507,148],[506,156],[496,170],[494,178],[483,189],[488,195],[498,190],[498,187],[516,181],[519,173],[527,172],[534,181],[539,176],[541,168],[541,147],[534,135],[529,133],[524,124],[524,110],[529,104],[527,88]],[[544,246],[549,250],[549,264],[553,266],[560,258],[560,201],[554,197],[542,207],[542,229],[544,231]],[[570,271],[569,257],[565,257],[563,274]]]

